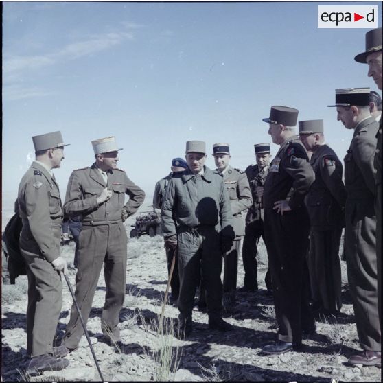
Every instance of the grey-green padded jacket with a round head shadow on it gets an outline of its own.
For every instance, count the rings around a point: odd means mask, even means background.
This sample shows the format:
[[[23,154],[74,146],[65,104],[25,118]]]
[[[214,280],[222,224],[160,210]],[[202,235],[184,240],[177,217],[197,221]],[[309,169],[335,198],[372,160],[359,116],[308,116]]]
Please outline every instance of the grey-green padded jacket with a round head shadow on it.
[[[178,226],[213,226],[228,233],[231,227],[233,232],[233,213],[222,175],[207,166],[202,175],[189,169],[174,174],[167,185],[161,217],[165,238],[176,235]]]

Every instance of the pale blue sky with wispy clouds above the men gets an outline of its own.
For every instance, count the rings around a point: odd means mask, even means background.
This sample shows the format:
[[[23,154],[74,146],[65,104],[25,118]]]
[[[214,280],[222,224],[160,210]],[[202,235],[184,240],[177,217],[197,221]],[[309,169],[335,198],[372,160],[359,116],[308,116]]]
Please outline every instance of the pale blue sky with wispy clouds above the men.
[[[317,5],[295,3],[3,3],[3,198],[16,198],[31,137],[61,130],[62,198],[91,141],[115,135],[119,167],[148,196],[185,141],[228,142],[231,165],[270,142],[270,106],[324,119],[340,159],[352,131],[336,121],[336,88],[371,86],[365,29],[318,29]],[[327,3],[329,4],[329,3]],[[331,3],[331,5],[381,3]],[[272,154],[277,146],[272,145]]]

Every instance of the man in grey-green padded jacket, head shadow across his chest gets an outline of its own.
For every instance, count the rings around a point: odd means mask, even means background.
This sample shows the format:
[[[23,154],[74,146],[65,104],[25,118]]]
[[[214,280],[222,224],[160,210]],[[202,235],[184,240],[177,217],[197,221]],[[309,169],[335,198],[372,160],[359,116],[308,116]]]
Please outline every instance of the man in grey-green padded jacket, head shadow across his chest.
[[[180,293],[179,336],[189,336],[194,294],[205,283],[209,327],[229,331],[222,319],[222,253],[231,249],[235,237],[229,194],[221,174],[205,166],[206,144],[187,141],[188,169],[167,185],[161,216],[165,244],[178,246]]]

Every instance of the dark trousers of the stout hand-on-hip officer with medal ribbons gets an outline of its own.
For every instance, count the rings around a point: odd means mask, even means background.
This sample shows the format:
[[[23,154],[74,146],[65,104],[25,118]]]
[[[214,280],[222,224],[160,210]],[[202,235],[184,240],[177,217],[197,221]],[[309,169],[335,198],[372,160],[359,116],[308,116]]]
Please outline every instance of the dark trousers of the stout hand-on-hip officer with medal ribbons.
[[[264,209],[264,214],[278,339],[300,343],[302,330],[314,327],[307,294],[310,220],[305,208],[287,211],[283,216],[273,209]]]

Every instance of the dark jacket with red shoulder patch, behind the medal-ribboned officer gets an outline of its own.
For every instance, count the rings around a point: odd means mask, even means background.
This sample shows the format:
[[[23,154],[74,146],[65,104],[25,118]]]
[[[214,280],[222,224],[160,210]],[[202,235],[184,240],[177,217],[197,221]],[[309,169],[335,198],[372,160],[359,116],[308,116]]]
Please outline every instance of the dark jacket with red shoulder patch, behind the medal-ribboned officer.
[[[306,205],[312,229],[344,227],[346,189],[342,181],[342,163],[326,144],[314,151],[310,163],[315,181],[306,196]]]

